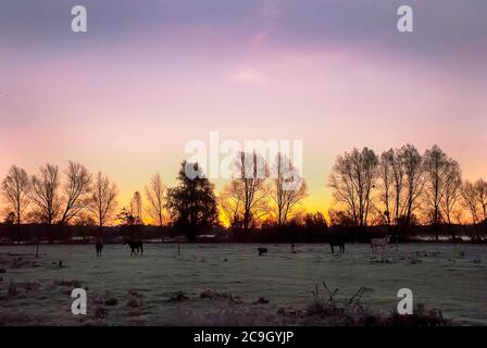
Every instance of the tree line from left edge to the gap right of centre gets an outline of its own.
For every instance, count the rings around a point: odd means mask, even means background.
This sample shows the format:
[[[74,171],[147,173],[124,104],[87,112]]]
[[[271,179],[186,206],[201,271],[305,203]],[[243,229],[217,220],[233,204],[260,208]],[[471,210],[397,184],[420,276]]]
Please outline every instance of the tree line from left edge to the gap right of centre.
[[[118,211],[118,189],[101,172],[92,175],[83,164],[72,161],[64,171],[48,163],[34,175],[12,165],[1,182],[4,223],[103,227],[112,223],[136,226],[150,221],[158,226],[172,224],[193,236],[198,231],[217,225],[220,212],[232,227],[247,231],[257,227],[264,214],[274,216],[275,210],[276,223],[286,224],[292,210],[307,196],[302,182],[297,189],[283,188],[295,178],[288,175],[294,170],[290,161],[280,153],[277,156],[273,170],[278,175],[270,185],[252,169],[258,161],[259,165],[262,163],[260,154],[242,152],[237,160],[241,164],[241,175],[232,179],[218,197],[198,163],[183,162],[176,186],[167,188],[157,173],[146,185],[145,195],[136,191],[130,202]],[[186,175],[187,166],[198,173],[195,178]],[[264,164],[264,171],[270,170]],[[275,202],[273,208],[271,200]]]

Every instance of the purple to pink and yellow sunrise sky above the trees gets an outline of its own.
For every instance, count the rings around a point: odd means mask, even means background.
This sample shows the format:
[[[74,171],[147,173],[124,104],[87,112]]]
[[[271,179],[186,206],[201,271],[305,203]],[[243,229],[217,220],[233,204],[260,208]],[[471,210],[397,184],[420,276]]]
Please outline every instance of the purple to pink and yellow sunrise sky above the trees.
[[[174,185],[210,132],[302,140],[310,210],[353,147],[437,144],[487,177],[486,15],[485,0],[1,0],[0,177],[74,160],[123,206],[155,172]]]

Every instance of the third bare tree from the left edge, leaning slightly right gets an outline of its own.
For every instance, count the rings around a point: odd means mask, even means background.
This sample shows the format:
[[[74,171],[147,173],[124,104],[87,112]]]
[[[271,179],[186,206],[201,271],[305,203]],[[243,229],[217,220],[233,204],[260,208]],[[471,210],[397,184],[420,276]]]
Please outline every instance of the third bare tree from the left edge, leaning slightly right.
[[[70,161],[64,186],[65,208],[60,224],[67,224],[88,207],[90,189],[91,174],[83,164]]]

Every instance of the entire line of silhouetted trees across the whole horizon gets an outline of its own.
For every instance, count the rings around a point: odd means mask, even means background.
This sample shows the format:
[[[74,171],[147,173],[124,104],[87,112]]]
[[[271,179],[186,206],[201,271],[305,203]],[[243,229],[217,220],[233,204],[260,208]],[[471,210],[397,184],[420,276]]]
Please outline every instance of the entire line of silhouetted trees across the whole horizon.
[[[278,153],[267,164],[257,152],[240,152],[236,162],[239,172],[217,196],[198,163],[183,162],[174,187],[166,187],[154,174],[143,194],[136,191],[122,209],[116,185],[80,163],[68,162],[64,171],[46,164],[33,175],[13,165],[1,182],[4,223],[103,227],[148,221],[161,227],[173,225],[190,237],[222,220],[236,231],[332,224],[386,225],[404,234],[411,225],[430,224],[438,237],[440,225],[487,220],[487,182],[462,181],[459,163],[438,146],[423,154],[405,145],[380,154],[354,148],[338,156],[327,183],[334,198],[329,222],[320,212],[305,212],[301,203],[308,186],[286,156]],[[275,175],[260,175],[257,167],[262,165]],[[187,166],[199,175],[189,178]]]

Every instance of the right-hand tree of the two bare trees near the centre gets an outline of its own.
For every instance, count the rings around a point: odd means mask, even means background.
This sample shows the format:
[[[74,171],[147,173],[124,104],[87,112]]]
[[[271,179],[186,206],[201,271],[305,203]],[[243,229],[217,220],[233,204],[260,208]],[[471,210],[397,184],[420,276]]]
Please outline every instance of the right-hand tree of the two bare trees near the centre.
[[[290,160],[277,153],[273,164],[275,174],[272,198],[276,204],[277,224],[287,223],[292,209],[308,196],[307,184],[294,167]]]

